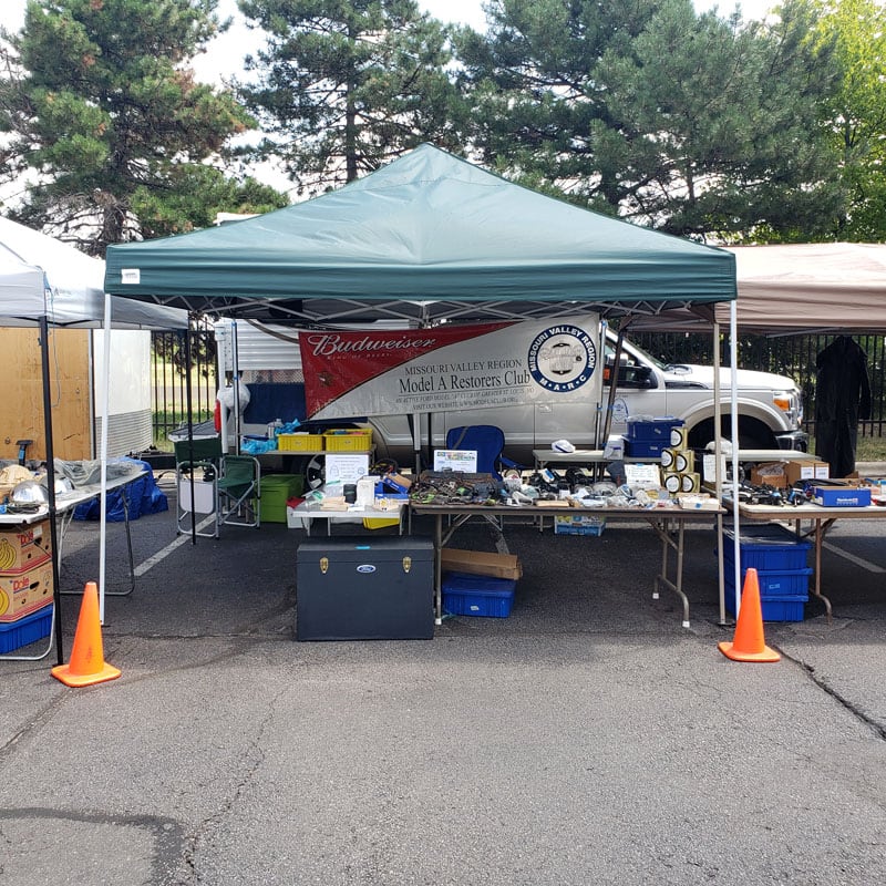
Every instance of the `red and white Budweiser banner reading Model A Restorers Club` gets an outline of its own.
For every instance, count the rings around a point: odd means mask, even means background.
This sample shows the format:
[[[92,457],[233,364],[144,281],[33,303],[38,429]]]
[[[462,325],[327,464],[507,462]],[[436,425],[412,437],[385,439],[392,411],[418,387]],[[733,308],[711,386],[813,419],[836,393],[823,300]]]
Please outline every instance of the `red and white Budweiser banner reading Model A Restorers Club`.
[[[347,419],[554,400],[597,403],[600,323],[576,319],[299,332],[308,415]]]

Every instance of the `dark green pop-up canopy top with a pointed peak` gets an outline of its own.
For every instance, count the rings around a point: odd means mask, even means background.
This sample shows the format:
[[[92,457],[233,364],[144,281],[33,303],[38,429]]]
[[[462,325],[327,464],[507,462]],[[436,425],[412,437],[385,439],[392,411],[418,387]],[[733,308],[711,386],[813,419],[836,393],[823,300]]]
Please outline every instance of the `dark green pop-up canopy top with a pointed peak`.
[[[302,327],[680,309],[713,321],[714,305],[736,298],[724,250],[571,206],[427,144],[285,209],[111,246],[105,267],[114,296]],[[734,369],[733,358],[733,400]]]

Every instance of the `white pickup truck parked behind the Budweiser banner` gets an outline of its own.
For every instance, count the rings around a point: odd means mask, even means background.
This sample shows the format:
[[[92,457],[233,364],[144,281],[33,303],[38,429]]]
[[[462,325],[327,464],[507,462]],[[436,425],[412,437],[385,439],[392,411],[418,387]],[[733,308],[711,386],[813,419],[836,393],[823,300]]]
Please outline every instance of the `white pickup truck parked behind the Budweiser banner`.
[[[298,347],[291,330],[288,341],[267,333],[238,331],[240,368],[262,370],[300,370]],[[616,333],[607,330],[604,363],[602,406],[583,402],[543,402],[521,406],[461,410],[421,416],[421,441],[429,450],[445,446],[450,427],[465,424],[494,424],[505,434],[505,453],[524,464],[532,464],[532,450],[549,449],[555,440],[565,439],[578,449],[602,445],[605,406],[608,403],[608,379],[615,362]],[[275,356],[276,354],[276,356]],[[721,368],[721,401],[723,434],[731,433],[730,370]],[[245,377],[249,383],[248,373]],[[688,429],[688,442],[703,449],[714,437],[713,380],[711,367],[666,364],[625,340],[619,360],[618,387],[614,418],[630,415],[673,415],[682,419]],[[804,450],[808,436],[802,431],[803,404],[796,383],[783,375],[739,370],[738,373],[739,444],[742,449]],[[356,416],[359,418],[359,416]],[[261,416],[259,422],[272,421]],[[413,434],[406,415],[375,415],[364,419],[374,431],[375,454],[394,459],[401,464],[413,462]],[[430,425],[430,426],[429,426]],[[249,429],[247,429],[248,431]],[[257,424],[258,431],[264,424]],[[618,424],[614,433],[620,433]]]

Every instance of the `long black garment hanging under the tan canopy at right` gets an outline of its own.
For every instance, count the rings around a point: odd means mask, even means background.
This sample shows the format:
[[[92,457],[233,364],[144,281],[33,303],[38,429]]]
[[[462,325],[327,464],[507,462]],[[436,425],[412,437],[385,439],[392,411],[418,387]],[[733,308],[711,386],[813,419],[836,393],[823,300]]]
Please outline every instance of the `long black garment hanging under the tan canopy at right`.
[[[859,419],[870,418],[867,354],[848,336],[837,336],[815,360],[815,454],[832,477],[855,471]]]

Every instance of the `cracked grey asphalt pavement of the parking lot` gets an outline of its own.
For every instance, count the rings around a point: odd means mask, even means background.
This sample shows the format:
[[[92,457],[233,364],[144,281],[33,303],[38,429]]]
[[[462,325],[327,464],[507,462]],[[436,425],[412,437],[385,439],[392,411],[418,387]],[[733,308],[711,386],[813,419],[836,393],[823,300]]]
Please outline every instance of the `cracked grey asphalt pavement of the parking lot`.
[[[652,599],[645,525],[527,523],[505,529],[524,566],[508,618],[297,642],[301,530],[192,544],[174,513],[142,516],[135,589],[102,629],[121,678],[68,688],[54,651],[0,662],[0,884],[886,882],[884,527],[834,527],[833,619],[811,602],[767,622],[775,664],[719,652],[712,519],[687,535],[688,629]],[[97,538],[66,533],[68,590],[96,578]],[[452,544],[495,539],[472,523]],[[107,545],[126,590],[121,524]],[[64,597],[66,653],[79,607]]]

